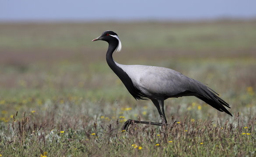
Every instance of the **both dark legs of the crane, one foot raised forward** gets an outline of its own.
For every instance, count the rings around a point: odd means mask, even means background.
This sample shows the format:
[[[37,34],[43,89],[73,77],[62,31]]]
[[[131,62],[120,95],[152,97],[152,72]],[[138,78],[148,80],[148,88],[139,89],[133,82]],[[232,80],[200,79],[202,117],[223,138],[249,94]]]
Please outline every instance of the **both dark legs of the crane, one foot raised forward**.
[[[128,130],[128,127],[130,126],[130,124],[133,123],[141,123],[141,124],[149,124],[149,125],[157,125],[157,126],[163,126],[167,124],[167,120],[165,118],[165,111],[164,111],[164,100],[156,100],[156,99],[151,99],[152,102],[154,103],[154,106],[156,106],[156,108],[158,109],[158,113],[160,114],[162,123],[155,123],[155,122],[144,122],[144,121],[139,121],[139,120],[132,120],[132,119],[128,119],[122,127],[122,130]],[[160,105],[161,108],[160,108]],[[162,110],[161,110],[162,109]]]

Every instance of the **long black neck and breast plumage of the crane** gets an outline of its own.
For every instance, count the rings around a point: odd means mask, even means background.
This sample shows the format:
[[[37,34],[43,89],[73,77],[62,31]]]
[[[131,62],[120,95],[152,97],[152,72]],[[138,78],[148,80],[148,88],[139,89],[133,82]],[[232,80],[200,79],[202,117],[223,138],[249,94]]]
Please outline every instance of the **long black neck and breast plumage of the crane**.
[[[139,90],[137,89],[125,71],[123,71],[122,68],[116,65],[116,62],[113,60],[112,54],[116,50],[118,46],[118,40],[111,40],[108,41],[109,43],[109,48],[106,54],[106,60],[109,65],[109,67],[112,69],[113,72],[116,73],[116,75],[120,78],[120,80],[123,82],[125,85],[126,89],[130,92],[130,94],[135,98],[135,99],[144,99],[146,100],[146,96]]]

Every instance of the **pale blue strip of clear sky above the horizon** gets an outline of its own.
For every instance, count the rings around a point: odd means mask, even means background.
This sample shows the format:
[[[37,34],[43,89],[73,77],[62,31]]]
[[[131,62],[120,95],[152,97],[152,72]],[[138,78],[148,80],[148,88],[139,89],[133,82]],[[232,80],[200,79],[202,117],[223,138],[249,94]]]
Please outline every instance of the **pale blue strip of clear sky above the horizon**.
[[[0,21],[256,18],[256,0],[0,0]]]

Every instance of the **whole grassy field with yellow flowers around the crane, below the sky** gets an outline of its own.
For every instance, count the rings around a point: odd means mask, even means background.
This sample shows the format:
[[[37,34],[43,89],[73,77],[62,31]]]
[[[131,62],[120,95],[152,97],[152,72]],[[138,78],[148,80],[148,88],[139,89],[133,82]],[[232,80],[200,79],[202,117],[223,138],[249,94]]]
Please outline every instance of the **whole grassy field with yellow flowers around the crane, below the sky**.
[[[105,61],[172,68],[207,84],[233,117],[194,97],[165,101],[165,128]],[[255,157],[256,21],[0,24],[0,156]]]

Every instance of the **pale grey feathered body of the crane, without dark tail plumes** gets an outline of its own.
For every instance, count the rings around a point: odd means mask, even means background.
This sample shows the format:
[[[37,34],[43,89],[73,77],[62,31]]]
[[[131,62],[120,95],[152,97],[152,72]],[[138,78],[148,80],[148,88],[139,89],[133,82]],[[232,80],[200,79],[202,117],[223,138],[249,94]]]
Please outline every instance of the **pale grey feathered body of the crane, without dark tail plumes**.
[[[118,63],[116,65],[122,68],[131,78],[133,85],[150,99],[197,96],[199,94],[203,95],[204,90],[210,90],[201,82],[170,68],[147,65],[121,65]],[[202,88],[204,90],[200,92]],[[183,94],[181,95],[181,93]]]

